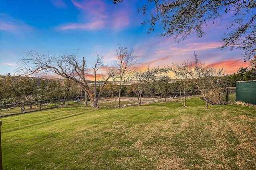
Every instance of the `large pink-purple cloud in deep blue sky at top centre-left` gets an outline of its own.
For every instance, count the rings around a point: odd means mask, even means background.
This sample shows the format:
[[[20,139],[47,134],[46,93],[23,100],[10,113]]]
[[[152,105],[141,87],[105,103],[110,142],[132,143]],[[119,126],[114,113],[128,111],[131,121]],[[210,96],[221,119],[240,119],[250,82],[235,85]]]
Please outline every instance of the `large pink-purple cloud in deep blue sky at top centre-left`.
[[[58,26],[59,30],[112,28],[119,31],[130,24],[129,10],[116,10],[116,6],[108,6],[109,4],[102,0],[71,0],[71,2],[80,10],[82,17],[80,21]]]

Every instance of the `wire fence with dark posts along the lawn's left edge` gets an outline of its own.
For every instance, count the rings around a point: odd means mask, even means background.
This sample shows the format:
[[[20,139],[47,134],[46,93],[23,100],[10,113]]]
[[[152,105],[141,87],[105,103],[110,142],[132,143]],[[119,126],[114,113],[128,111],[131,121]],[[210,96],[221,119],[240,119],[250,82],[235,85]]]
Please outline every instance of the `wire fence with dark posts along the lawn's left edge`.
[[[40,111],[45,109],[53,109],[53,108],[62,107],[64,105],[77,104],[79,102],[84,102],[84,99],[85,99],[85,96],[79,96],[79,97],[40,100],[40,101],[32,101],[32,102],[1,104],[0,117],[30,113],[30,112]]]

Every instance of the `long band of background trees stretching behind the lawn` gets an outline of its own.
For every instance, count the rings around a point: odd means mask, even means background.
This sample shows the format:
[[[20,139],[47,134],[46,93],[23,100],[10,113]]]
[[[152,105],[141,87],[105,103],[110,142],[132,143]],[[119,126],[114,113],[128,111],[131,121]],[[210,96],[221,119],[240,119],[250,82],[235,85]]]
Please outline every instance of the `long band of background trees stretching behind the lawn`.
[[[212,65],[206,66],[199,61],[197,55],[194,54],[194,56],[194,61],[184,61],[182,64],[174,64],[164,68],[150,69],[148,67],[146,70],[132,70],[132,74],[130,72],[128,75],[123,74],[123,77],[126,77],[125,80],[114,81],[115,83],[104,82],[104,80],[96,81],[96,79],[94,81],[86,80],[86,82],[91,84],[88,85],[90,92],[92,94],[95,92],[95,96],[99,96],[97,97],[98,100],[118,96],[120,102],[122,96],[136,96],[139,105],[141,105],[143,96],[158,96],[166,100],[167,97],[173,97],[179,93],[182,105],[186,106],[186,94],[189,93],[201,94],[206,101],[206,108],[208,108],[209,100],[216,101],[216,103],[221,102],[219,100],[221,100],[224,88],[227,86],[236,86],[236,81],[256,79],[256,58],[251,61],[250,66],[241,67],[234,74],[224,75],[223,68],[215,68]],[[117,63],[116,67],[120,68]],[[180,80],[171,82],[168,74],[170,71],[174,72],[176,78],[180,78]],[[112,80],[120,80],[118,75],[113,76]],[[131,83],[124,85],[124,82],[128,80],[132,80]],[[96,83],[101,83],[104,86],[96,86]],[[2,76],[0,78],[1,104],[65,99],[85,96],[86,94],[88,92],[80,84],[69,78],[44,79],[24,76]],[[120,103],[118,107],[120,107]]]

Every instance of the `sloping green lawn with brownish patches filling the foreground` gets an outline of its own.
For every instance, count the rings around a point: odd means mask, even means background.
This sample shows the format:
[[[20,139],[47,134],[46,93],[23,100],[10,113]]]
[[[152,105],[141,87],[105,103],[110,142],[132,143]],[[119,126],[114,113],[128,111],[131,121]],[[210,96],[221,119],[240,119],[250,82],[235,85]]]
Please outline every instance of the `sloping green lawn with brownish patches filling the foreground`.
[[[4,170],[256,169],[256,107],[199,97],[2,117]]]

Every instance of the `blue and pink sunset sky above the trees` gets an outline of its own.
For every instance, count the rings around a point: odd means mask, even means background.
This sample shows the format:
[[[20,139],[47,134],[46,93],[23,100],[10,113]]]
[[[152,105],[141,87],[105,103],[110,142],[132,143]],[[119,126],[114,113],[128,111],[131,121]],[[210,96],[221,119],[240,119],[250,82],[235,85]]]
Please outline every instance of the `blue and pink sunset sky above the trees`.
[[[242,51],[217,49],[230,16],[218,25],[205,28],[206,35],[188,36],[176,43],[161,37],[161,29],[148,34],[150,18],[138,13],[147,0],[1,0],[0,1],[0,75],[17,75],[17,62],[30,50],[58,56],[76,53],[92,66],[95,54],[110,64],[118,44],[134,50],[139,69],[193,61],[194,53],[202,63],[224,67],[233,74],[243,66]],[[52,75],[47,75],[50,78]]]

